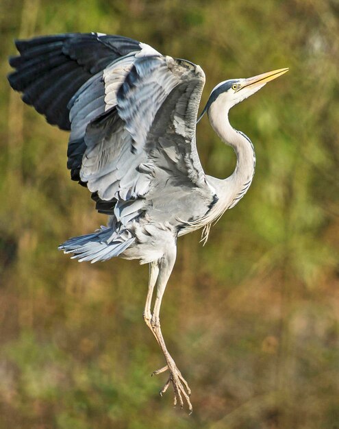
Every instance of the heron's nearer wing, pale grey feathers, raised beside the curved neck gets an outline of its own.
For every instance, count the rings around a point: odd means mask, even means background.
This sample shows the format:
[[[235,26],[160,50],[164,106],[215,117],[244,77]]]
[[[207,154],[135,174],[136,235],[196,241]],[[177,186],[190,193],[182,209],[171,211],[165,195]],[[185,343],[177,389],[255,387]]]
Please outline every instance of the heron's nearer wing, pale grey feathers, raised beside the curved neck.
[[[214,192],[195,145],[203,71],[164,56],[142,56],[131,64],[120,61],[127,73],[117,91],[112,86],[113,94],[108,82],[121,64],[117,61],[103,72],[106,90],[101,97],[114,101],[86,127],[81,181],[95,193],[98,208],[114,211],[124,224],[141,212],[173,221],[205,215]],[[93,79],[75,97],[71,115],[77,103],[88,102],[81,101],[86,93],[97,93],[99,99],[97,88]]]

